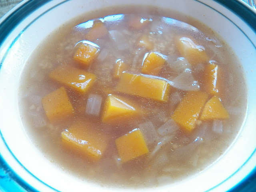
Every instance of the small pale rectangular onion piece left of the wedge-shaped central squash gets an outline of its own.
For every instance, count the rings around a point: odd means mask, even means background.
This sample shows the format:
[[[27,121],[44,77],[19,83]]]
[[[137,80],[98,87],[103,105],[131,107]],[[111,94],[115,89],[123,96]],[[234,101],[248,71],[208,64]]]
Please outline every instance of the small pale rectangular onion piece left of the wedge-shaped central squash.
[[[88,96],[86,104],[86,113],[90,115],[99,115],[101,107],[102,97],[96,94],[90,94]]]

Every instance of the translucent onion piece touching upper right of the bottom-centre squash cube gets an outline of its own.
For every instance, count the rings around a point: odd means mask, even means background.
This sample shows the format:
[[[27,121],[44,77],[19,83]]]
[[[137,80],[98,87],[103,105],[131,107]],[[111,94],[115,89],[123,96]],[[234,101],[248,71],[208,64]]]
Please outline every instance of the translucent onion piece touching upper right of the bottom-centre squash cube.
[[[156,132],[155,126],[151,121],[139,124],[139,128],[142,131],[144,138],[146,139],[147,144],[157,144],[159,141],[158,134]]]

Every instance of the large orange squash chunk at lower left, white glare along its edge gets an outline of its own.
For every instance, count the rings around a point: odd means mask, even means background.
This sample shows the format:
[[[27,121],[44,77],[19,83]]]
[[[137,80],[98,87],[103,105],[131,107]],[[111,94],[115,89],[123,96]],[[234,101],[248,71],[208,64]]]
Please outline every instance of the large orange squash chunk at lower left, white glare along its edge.
[[[108,146],[108,136],[96,131],[91,124],[76,122],[61,133],[62,142],[70,150],[85,154],[92,160],[99,160]]]

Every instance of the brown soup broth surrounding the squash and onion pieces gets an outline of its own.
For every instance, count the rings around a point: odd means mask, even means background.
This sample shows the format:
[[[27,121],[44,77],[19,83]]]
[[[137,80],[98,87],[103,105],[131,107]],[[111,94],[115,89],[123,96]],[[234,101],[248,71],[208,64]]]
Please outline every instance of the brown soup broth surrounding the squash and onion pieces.
[[[100,38],[94,43],[100,46],[100,52],[107,52],[106,58],[102,61],[96,59],[88,68],[80,66],[73,60],[75,45],[77,42],[85,40],[84,35],[89,30],[86,28],[86,24],[90,24],[90,22],[82,23],[94,18],[103,18],[109,13],[112,14],[113,10],[119,15],[108,16],[102,21],[108,30],[121,30],[126,38],[123,41],[130,48],[119,47],[117,49],[116,43],[111,40],[110,36]],[[152,19],[150,26],[142,30],[129,28],[127,21],[129,17],[134,15]],[[152,50],[134,46],[142,34],[147,34],[154,42]],[[219,77],[221,79],[221,92],[218,96],[222,99],[222,104],[228,110],[230,118],[222,121],[223,131],[221,134],[212,131],[212,121],[198,121],[198,125],[190,134],[182,129],[166,137],[158,134],[154,142],[148,144],[150,151],[148,155],[121,164],[118,160],[114,140],[134,130],[134,128],[143,130],[153,124],[158,129],[170,119],[180,100],[179,97],[183,97],[186,91],[178,89],[172,91],[168,102],[157,102],[115,92],[114,88],[118,80],[112,78],[113,66],[117,59],[122,59],[129,65],[128,72],[139,74],[144,54],[150,51],[160,52],[167,57],[167,62],[158,76],[172,80],[179,73],[172,70],[168,61],[172,63],[181,57],[176,49],[175,36],[196,39],[197,44],[205,47],[210,60],[215,60],[220,68],[224,69]],[[76,115],[69,121],[52,124],[45,115],[41,99],[62,86],[48,77],[52,69],[60,65],[74,65],[76,68],[92,72],[97,76],[97,82],[84,95],[77,94],[74,90],[66,87]],[[192,76],[199,85],[201,85],[200,70],[202,67],[202,65],[196,65],[191,68]],[[192,18],[150,7],[144,8],[142,12],[134,7],[110,8],[86,14],[65,24],[50,34],[36,48],[28,60],[22,76],[20,86],[21,116],[34,144],[46,154],[47,158],[56,163],[57,166],[61,166],[66,172],[100,184],[121,187],[158,186],[200,172],[220,157],[230,146],[240,130],[246,111],[246,84],[241,74],[243,74],[242,67],[232,49],[211,29]],[[111,91],[109,92],[109,90]],[[148,114],[125,123],[109,125],[102,123],[100,116],[85,113],[89,94],[100,95],[103,106],[108,93],[133,100],[142,109],[148,110]],[[80,153],[67,150],[62,145],[61,132],[68,129],[78,119],[97,125],[94,127],[96,130],[109,134],[112,138],[99,162],[92,162]],[[156,146],[160,147],[160,150],[154,154]]]

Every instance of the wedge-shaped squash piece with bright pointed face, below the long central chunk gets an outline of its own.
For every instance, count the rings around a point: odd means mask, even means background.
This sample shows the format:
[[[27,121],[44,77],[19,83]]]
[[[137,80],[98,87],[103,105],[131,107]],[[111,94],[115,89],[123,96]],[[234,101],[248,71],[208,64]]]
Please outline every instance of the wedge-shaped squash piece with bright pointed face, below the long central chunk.
[[[129,118],[138,116],[140,114],[137,107],[134,104],[120,96],[108,95],[104,104],[104,110],[102,114],[102,122],[115,124],[118,122],[124,122]]]

